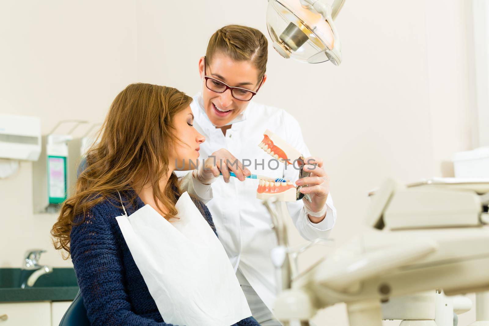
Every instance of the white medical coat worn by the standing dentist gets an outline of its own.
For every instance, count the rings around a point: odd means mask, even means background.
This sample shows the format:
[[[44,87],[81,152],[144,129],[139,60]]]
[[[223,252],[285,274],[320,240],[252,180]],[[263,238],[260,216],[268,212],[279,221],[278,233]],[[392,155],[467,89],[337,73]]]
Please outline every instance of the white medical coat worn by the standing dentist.
[[[200,144],[200,160],[224,148],[240,162],[248,165],[247,160],[251,160],[248,169],[253,174],[283,177],[292,182],[298,179],[298,170],[290,166],[286,169],[283,163],[277,164],[277,161],[258,147],[263,140],[264,131],[269,129],[305,157],[311,156],[298,122],[289,113],[283,109],[250,102],[244,113],[244,121],[233,123],[224,136],[222,130],[212,125],[207,118],[199,97],[200,94],[194,97],[190,107],[195,117],[194,127],[206,139]],[[258,164],[255,164],[255,159]],[[267,209],[262,200],[256,199],[258,180],[246,179],[242,182],[231,177],[230,182],[226,184],[220,177],[211,187],[204,187],[197,181],[190,187],[195,187],[195,191],[191,192],[209,208],[219,239],[235,271],[239,268],[263,302],[272,310],[277,288],[270,250],[277,246],[277,239],[270,227],[272,221]],[[289,215],[302,237],[307,240],[328,238],[336,220],[336,209],[331,194],[326,205],[326,217],[314,224],[307,217],[302,200],[287,202]]]

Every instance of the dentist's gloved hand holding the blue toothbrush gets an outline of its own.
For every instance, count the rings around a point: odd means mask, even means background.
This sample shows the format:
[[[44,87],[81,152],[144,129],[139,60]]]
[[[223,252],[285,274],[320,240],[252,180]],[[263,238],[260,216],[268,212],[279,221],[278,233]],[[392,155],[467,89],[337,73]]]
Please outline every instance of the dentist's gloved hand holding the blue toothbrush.
[[[210,184],[222,173],[224,182],[229,182],[229,172],[232,171],[236,177],[244,181],[251,172],[243,167],[243,164],[226,149],[213,152],[197,170],[192,172],[197,181],[202,184]]]

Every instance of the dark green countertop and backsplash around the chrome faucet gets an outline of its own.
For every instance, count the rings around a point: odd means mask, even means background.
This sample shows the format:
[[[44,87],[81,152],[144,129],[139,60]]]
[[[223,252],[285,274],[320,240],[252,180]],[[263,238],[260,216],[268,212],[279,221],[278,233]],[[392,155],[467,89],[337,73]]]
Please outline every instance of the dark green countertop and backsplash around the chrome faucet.
[[[33,287],[21,288],[22,280],[34,271],[20,268],[0,268],[0,302],[13,301],[70,301],[78,293],[73,268],[53,268],[39,277]]]

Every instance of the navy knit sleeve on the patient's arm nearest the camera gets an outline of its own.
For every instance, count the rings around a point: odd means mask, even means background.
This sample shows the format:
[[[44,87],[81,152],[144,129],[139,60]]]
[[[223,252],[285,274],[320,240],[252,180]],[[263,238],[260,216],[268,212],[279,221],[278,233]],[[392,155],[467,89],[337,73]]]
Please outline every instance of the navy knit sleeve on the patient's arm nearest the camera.
[[[71,230],[71,258],[90,324],[171,326],[131,311],[116,240],[102,214],[90,210],[83,223]]]

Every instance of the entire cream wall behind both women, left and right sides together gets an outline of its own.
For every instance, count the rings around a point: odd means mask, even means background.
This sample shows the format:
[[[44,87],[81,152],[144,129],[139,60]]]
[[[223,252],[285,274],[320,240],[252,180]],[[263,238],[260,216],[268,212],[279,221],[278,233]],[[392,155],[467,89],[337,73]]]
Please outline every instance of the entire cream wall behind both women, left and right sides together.
[[[131,82],[193,95],[198,59],[217,28],[238,23],[267,34],[265,0],[186,1],[186,11],[180,1],[81,3],[2,1],[0,112],[40,116],[47,133],[62,119],[102,120]],[[471,147],[469,4],[349,0],[337,20],[339,67],[286,61],[270,47],[267,83],[256,99],[294,115],[311,152],[324,158],[337,243],[361,232],[366,194],[383,178],[449,175],[444,162]],[[30,163],[0,180],[0,207],[0,267],[19,266],[34,247],[48,249],[44,263],[70,264],[49,244],[56,217],[32,214]],[[312,249],[301,266],[321,254],[324,248]],[[474,319],[466,315],[459,325]],[[344,306],[316,321],[345,325]]]

